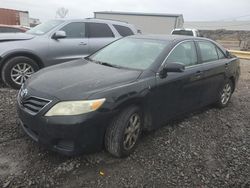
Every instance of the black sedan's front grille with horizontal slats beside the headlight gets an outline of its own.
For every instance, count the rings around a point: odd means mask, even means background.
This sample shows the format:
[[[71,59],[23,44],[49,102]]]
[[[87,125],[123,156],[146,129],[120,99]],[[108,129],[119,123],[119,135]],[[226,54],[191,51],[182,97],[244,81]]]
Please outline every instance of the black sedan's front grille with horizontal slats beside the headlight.
[[[37,114],[49,103],[50,100],[48,99],[42,99],[33,96],[20,100],[20,104],[22,105],[22,107],[28,110],[32,114]]]

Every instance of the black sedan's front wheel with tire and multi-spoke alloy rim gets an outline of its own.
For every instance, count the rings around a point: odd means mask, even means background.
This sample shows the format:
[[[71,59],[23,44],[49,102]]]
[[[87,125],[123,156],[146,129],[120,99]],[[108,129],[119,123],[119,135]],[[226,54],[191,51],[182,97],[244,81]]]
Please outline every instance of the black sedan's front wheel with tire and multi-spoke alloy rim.
[[[143,118],[137,106],[124,109],[113,119],[105,135],[106,150],[115,157],[130,155],[138,142]]]

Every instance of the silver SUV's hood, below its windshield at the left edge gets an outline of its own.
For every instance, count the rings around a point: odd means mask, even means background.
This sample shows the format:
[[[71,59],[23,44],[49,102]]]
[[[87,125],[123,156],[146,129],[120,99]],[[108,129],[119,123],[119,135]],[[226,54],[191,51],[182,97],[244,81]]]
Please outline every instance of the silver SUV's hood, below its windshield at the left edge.
[[[1,33],[0,34],[0,42],[6,41],[16,41],[16,40],[29,40],[34,38],[34,35],[30,35],[27,33]]]

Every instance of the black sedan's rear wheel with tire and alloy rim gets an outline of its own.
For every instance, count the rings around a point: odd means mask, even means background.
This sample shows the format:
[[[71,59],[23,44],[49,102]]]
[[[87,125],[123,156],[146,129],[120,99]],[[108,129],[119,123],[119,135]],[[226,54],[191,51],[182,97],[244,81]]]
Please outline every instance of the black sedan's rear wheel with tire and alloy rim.
[[[217,107],[226,107],[231,99],[232,93],[233,83],[231,80],[227,80],[219,92],[218,101],[216,103]]]

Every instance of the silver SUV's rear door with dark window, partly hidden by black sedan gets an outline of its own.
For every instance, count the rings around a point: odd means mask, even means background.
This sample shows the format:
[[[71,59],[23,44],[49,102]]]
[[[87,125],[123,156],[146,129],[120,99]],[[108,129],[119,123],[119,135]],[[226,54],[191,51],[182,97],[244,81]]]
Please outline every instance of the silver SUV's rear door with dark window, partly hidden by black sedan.
[[[108,24],[105,23],[87,23],[90,54],[99,50],[115,40],[115,35]]]

